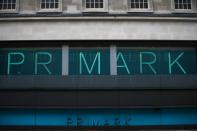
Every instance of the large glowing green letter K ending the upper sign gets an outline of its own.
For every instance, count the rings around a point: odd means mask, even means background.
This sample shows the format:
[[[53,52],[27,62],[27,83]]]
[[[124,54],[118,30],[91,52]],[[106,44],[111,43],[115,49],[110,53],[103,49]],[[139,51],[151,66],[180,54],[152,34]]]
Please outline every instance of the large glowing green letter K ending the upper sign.
[[[178,62],[178,60],[181,58],[181,56],[183,56],[184,52],[182,52],[181,54],[178,55],[178,57],[172,61],[171,60],[171,54],[170,52],[168,53],[168,59],[169,59],[169,73],[172,74],[172,66],[174,66],[174,64],[176,63],[178,65],[178,67],[183,71],[184,74],[187,74],[187,72],[184,70],[184,68],[181,66],[181,64]]]

